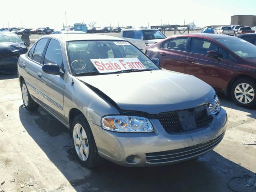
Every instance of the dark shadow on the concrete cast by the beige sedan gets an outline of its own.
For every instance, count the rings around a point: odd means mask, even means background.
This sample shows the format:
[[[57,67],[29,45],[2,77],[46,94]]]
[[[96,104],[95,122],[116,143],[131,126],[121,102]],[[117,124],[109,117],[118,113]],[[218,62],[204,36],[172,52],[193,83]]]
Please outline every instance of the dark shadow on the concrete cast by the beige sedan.
[[[29,112],[20,106],[19,115],[28,134],[77,191],[254,191],[246,187],[254,173],[214,151],[168,166],[128,168],[105,161],[88,170],[79,164],[69,131],[58,120],[41,107]]]

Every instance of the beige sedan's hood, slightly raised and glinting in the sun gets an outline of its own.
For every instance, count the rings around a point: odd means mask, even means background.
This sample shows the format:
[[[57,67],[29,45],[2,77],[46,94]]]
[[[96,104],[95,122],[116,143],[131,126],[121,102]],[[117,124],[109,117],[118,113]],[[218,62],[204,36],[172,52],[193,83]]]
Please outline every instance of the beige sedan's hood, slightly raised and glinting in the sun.
[[[202,80],[168,70],[76,78],[98,88],[122,110],[149,114],[194,108],[212,102],[215,94],[214,89]]]

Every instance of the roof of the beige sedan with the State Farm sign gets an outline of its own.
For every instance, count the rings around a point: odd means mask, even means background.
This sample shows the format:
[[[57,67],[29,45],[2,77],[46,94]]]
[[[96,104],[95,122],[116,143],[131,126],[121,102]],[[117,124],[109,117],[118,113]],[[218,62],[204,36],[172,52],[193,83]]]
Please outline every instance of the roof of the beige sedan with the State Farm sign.
[[[64,34],[50,34],[43,36],[42,38],[59,38],[62,41],[78,41],[78,40],[122,40],[122,38],[108,36],[108,35],[96,35],[87,33],[64,33]]]

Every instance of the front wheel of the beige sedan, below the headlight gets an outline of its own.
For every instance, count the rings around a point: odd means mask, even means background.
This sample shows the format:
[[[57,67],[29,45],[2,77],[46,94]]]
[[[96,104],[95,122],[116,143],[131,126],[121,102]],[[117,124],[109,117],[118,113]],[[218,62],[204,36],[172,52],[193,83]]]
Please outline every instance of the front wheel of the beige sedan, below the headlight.
[[[74,152],[83,166],[92,168],[101,162],[92,130],[86,118],[81,114],[74,118],[70,128]]]

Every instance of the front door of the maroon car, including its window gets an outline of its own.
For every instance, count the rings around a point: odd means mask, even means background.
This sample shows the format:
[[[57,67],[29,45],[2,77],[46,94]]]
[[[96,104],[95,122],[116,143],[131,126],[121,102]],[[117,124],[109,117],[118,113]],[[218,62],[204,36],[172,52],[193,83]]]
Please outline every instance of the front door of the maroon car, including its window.
[[[190,46],[186,55],[185,73],[194,75],[210,84],[215,90],[223,90],[228,52],[217,44],[202,38],[190,38]],[[215,50],[218,58],[206,56],[207,52]]]

